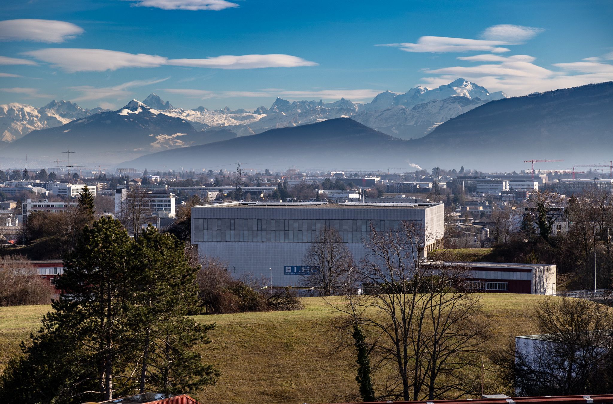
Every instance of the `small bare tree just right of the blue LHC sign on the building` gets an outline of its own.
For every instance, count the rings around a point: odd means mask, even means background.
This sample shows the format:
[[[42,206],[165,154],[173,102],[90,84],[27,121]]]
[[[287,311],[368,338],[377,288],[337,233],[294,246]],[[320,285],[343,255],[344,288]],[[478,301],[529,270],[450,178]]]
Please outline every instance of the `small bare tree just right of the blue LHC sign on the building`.
[[[334,227],[324,226],[307,249],[305,264],[316,268],[305,280],[305,285],[332,296],[348,279],[354,267],[353,254],[343,243],[343,238]]]

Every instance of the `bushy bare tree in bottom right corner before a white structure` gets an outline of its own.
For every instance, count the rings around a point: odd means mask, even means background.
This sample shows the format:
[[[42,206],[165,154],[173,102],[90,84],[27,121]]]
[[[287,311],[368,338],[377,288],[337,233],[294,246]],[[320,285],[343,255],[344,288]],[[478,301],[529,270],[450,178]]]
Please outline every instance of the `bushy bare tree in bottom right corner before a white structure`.
[[[600,303],[547,297],[536,308],[538,338],[492,359],[521,395],[604,394],[613,387],[613,313]]]

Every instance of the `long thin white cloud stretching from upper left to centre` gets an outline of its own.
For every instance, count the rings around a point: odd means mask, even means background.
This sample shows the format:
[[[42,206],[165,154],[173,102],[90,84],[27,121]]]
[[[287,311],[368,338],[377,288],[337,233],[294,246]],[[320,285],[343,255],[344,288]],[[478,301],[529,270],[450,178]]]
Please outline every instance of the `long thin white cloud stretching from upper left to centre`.
[[[168,59],[164,56],[120,52],[105,49],[46,48],[24,53],[52,67],[74,72],[103,72],[123,67],[159,67],[164,65],[208,67],[212,69],[257,69],[261,67],[317,66],[317,63],[291,55],[217,56],[207,59]]]

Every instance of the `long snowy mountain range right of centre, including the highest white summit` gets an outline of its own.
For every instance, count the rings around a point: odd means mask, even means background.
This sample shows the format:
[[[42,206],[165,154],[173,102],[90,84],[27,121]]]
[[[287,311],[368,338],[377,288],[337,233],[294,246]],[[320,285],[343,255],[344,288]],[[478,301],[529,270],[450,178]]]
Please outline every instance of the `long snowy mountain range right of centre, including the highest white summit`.
[[[151,96],[143,102],[147,104]],[[290,102],[278,97],[270,108],[259,107],[253,113],[244,109],[231,111],[228,107],[215,111],[199,107],[194,110],[166,109],[162,112],[190,121],[197,130],[224,128],[239,136],[351,117],[386,134],[401,139],[417,139],[461,113],[505,97],[506,94],[501,91],[490,94],[487,89],[459,78],[438,88],[417,86],[404,94],[384,91],[366,105],[344,98],[324,103],[321,100]],[[151,102],[147,105],[153,107],[154,104]]]

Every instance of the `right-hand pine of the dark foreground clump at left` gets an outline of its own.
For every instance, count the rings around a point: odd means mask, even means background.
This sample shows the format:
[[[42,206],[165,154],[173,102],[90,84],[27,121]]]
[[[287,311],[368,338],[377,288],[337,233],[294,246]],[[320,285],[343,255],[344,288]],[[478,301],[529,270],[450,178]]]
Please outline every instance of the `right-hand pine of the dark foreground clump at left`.
[[[143,335],[139,392],[178,393],[214,384],[219,371],[202,364],[202,356],[191,348],[210,343],[207,332],[215,324],[186,318],[199,311],[195,280],[200,265],[190,267],[183,243],[152,226],[140,235],[134,255],[142,257],[136,271],[145,285],[135,301]]]

